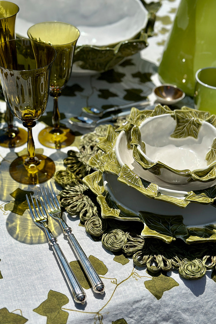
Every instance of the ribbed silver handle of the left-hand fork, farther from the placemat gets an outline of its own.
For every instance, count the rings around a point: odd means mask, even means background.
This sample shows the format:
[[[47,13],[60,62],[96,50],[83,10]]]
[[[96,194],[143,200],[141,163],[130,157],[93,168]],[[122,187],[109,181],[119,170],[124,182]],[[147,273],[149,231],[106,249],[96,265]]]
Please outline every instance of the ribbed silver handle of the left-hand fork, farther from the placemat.
[[[74,300],[76,303],[84,304],[86,300],[86,294],[83,292],[83,289],[73,273],[68,260],[65,258],[59,244],[57,243],[57,238],[53,237],[49,240],[49,244],[52,246],[52,249],[59,261],[61,269],[64,273],[64,276],[70,286],[70,290],[73,294]]]

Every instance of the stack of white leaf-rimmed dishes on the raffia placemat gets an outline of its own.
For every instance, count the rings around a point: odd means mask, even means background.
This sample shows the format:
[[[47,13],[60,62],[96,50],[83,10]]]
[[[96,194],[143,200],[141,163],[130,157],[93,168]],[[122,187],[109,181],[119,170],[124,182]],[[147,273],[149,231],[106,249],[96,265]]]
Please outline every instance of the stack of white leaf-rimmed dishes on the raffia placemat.
[[[135,108],[99,138],[83,181],[102,217],[140,221],[144,237],[216,241],[216,116],[182,107]]]

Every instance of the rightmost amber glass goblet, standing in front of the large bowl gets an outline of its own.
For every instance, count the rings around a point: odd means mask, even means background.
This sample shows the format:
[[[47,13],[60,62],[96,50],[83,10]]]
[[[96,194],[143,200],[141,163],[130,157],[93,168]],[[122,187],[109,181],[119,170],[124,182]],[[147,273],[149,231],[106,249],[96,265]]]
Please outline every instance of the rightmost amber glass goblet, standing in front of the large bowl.
[[[74,49],[80,32],[73,25],[48,21],[31,26],[27,34],[31,40],[45,42],[56,50],[50,75],[50,95],[54,98],[52,127],[43,129],[38,139],[42,145],[59,149],[73,143],[75,137],[69,128],[59,125],[58,97],[70,78]]]

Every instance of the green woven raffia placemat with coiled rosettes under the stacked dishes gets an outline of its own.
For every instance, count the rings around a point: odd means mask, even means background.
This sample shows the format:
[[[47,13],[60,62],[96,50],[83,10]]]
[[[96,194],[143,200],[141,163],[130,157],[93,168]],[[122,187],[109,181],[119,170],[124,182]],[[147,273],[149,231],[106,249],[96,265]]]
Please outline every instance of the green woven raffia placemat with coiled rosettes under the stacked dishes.
[[[118,127],[122,121],[117,121]],[[143,238],[141,222],[103,219],[95,194],[82,182],[94,170],[88,160],[98,151],[97,138],[106,135],[107,125],[98,126],[94,132],[81,138],[79,152],[68,151],[64,159],[66,169],[55,174],[55,181],[62,187],[60,202],[66,212],[79,215],[81,224],[94,240],[114,254],[132,257],[135,265],[146,266],[150,272],[178,269],[185,279],[200,279],[208,269],[216,266],[216,243],[186,244],[176,239],[170,244],[156,238]]]

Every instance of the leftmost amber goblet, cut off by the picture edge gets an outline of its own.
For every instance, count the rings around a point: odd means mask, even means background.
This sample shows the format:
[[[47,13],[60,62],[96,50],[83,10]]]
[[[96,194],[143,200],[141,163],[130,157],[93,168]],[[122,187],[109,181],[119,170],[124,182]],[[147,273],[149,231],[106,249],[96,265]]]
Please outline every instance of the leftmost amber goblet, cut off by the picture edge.
[[[0,42],[15,38],[15,20],[19,7],[13,2],[0,1]],[[21,146],[27,142],[27,132],[13,125],[13,114],[6,104],[5,120],[7,127],[0,130],[0,145],[4,147]]]

